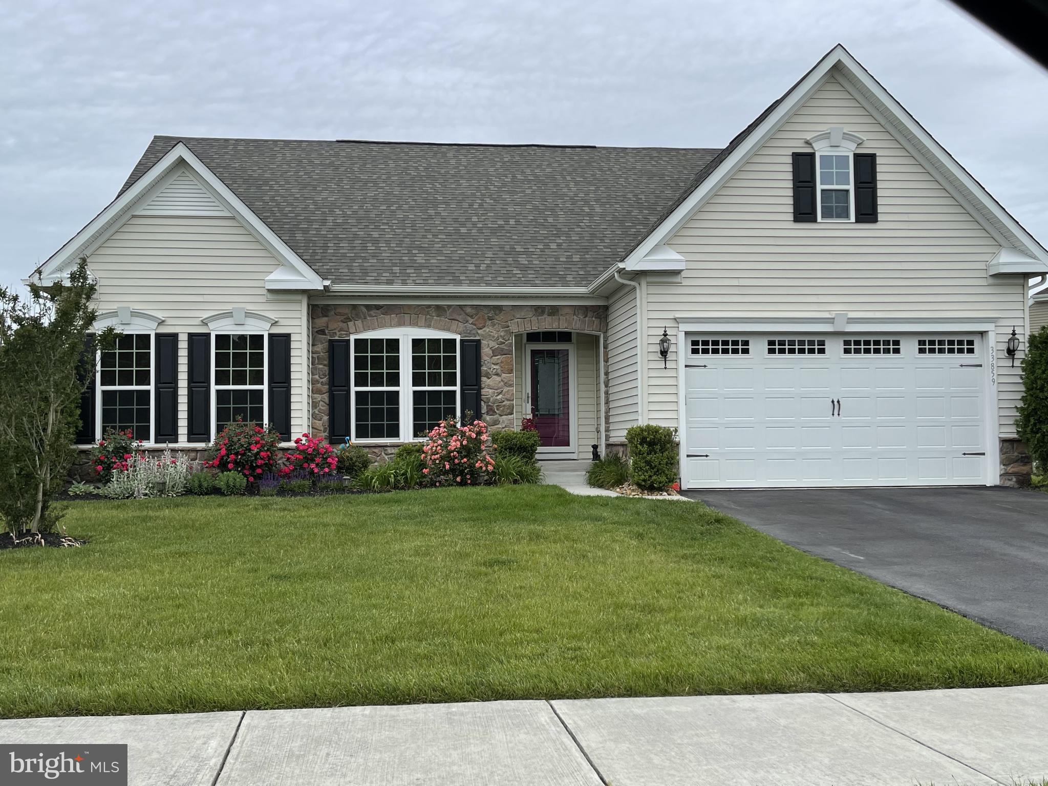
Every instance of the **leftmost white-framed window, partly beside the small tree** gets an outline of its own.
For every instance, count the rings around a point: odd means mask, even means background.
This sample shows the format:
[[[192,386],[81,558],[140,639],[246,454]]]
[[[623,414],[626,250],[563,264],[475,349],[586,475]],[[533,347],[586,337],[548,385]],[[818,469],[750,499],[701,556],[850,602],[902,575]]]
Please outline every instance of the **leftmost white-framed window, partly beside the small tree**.
[[[100,353],[99,435],[108,429],[153,437],[153,333],[124,333],[113,349]]]

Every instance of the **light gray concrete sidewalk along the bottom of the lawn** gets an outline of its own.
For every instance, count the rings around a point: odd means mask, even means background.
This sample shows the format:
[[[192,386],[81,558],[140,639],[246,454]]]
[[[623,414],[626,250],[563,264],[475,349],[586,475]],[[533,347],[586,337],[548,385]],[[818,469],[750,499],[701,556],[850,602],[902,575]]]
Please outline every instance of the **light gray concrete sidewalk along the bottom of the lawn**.
[[[1048,778],[1048,685],[0,721],[138,786],[913,786]]]

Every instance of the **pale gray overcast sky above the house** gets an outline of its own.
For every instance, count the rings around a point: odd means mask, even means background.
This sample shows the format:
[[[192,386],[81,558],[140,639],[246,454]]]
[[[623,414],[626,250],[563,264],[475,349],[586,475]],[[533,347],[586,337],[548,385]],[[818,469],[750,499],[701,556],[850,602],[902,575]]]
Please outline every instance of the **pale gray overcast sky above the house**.
[[[22,0],[0,16],[0,283],[156,133],[717,147],[837,42],[1048,243],[1048,73],[940,0]]]

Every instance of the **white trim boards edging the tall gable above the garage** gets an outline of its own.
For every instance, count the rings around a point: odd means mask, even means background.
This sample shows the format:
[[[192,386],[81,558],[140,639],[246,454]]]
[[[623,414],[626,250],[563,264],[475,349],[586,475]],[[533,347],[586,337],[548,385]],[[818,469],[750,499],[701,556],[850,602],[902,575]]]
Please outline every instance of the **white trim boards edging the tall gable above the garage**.
[[[781,99],[764,110],[745,131],[732,140],[716,160],[689,183],[687,189],[665,211],[657,225],[623,259],[621,266],[627,269],[645,269],[648,255],[657,253],[789,121],[793,112],[831,78],[845,86],[1009,250],[1010,265],[1007,268],[991,265],[988,270],[990,274],[1048,271],[1048,252],[839,44]],[[1025,261],[1018,264],[1018,259]],[[602,280],[610,278],[613,269],[609,269]]]

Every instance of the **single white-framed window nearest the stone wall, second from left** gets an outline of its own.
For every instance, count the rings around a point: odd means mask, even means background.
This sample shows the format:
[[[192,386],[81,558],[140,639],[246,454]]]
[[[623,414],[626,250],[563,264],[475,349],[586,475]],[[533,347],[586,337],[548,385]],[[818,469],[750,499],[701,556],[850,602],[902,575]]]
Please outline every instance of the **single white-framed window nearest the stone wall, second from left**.
[[[266,334],[226,333],[213,336],[215,353],[215,434],[241,418],[266,422]]]

